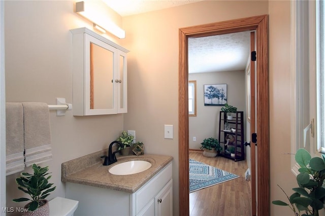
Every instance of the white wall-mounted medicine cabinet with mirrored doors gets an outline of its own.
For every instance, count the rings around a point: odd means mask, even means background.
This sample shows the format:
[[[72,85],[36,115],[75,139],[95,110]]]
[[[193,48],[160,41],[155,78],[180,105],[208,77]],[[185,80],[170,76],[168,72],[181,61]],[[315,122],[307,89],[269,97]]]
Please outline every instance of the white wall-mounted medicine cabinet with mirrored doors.
[[[87,28],[73,33],[73,115],[127,112],[128,50]]]

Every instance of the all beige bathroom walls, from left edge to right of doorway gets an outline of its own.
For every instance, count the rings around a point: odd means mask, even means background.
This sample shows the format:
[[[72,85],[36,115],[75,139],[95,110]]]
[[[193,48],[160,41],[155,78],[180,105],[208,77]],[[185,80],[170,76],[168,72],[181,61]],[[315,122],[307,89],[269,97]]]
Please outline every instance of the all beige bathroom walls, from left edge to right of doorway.
[[[146,153],[174,157],[174,213],[178,215],[178,29],[211,22],[270,14],[271,200],[284,199],[276,184],[290,193],[290,2],[206,1],[128,16],[126,39],[114,42],[128,53],[128,114],[73,117],[51,112],[53,160],[51,197],[64,196],[60,164],[104,148],[122,129],[137,131]],[[7,101],[72,101],[72,34],[91,23],[73,13],[72,2],[5,3]],[[285,121],[284,121],[285,120]],[[174,139],[164,139],[164,124],[174,125]],[[26,171],[30,171],[27,169]],[[7,177],[7,206],[22,194],[13,174]],[[181,186],[180,186],[181,187]],[[20,204],[19,206],[21,206]],[[271,215],[289,215],[271,205]]]

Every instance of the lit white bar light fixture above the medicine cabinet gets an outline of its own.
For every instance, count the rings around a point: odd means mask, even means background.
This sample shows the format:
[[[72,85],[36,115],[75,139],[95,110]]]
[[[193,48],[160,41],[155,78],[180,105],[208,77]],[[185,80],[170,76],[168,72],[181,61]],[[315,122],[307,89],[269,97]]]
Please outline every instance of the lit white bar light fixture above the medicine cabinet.
[[[76,13],[93,22],[94,27],[100,30],[98,27],[102,28],[100,31],[109,31],[116,37],[122,39],[125,38],[125,31],[113,23],[111,20],[104,20],[103,16],[99,13],[99,10],[93,8],[88,2],[76,2]]]

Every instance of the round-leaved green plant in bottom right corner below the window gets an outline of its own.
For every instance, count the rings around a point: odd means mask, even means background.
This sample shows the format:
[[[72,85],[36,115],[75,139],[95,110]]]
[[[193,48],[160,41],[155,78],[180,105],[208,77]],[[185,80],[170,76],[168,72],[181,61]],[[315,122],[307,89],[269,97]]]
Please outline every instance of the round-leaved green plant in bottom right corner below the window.
[[[272,201],[275,205],[289,206],[295,216],[314,215],[318,216],[318,210],[323,208],[325,202],[325,188],[322,187],[325,179],[325,156],[311,158],[305,149],[299,149],[295,155],[296,162],[300,165],[297,175],[298,188],[293,188],[290,197],[286,195],[290,204],[281,200]]]

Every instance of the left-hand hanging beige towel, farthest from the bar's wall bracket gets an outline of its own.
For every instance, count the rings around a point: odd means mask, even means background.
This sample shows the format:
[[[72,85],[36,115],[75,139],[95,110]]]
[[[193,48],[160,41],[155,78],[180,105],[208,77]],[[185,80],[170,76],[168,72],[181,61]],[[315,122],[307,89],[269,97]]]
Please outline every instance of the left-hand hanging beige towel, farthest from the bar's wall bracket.
[[[6,103],[6,175],[24,170],[22,103]]]

